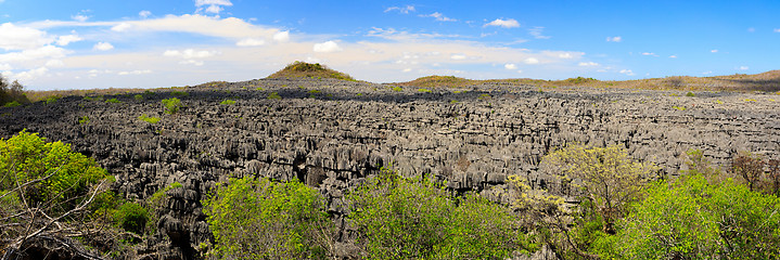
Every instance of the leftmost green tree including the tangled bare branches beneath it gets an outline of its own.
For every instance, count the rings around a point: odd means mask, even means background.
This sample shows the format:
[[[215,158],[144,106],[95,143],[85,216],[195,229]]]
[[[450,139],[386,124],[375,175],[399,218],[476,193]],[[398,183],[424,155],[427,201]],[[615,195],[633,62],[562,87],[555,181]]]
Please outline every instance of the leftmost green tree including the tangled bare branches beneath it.
[[[101,230],[91,218],[111,179],[68,144],[27,131],[0,140],[0,250],[7,257],[23,255],[44,239],[93,257],[64,238],[91,237]]]

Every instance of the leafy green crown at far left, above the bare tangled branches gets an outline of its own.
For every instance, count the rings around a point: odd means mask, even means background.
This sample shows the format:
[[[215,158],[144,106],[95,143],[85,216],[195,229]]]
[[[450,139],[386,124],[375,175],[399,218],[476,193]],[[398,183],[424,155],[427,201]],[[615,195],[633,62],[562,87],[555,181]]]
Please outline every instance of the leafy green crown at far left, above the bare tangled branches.
[[[28,205],[62,205],[59,210],[68,210],[80,203],[74,198],[110,176],[94,159],[71,152],[69,144],[48,143],[37,133],[23,130],[9,140],[0,140],[0,194],[18,183],[41,179],[22,188],[24,194],[11,194],[16,198],[23,195]]]

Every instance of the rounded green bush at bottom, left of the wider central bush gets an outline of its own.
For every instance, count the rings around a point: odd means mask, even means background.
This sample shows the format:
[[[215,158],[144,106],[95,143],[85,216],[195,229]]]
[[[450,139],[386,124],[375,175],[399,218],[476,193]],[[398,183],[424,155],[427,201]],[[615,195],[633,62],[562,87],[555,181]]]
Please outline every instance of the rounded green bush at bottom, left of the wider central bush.
[[[220,259],[324,259],[332,240],[324,198],[297,181],[230,179],[204,212]]]

